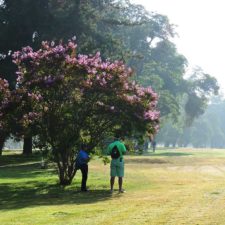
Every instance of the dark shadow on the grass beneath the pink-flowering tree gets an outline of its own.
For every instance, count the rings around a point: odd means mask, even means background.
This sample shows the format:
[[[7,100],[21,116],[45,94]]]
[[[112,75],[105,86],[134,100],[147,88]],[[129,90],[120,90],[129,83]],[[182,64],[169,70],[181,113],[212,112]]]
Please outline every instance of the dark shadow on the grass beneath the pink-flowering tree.
[[[90,204],[109,198],[111,193],[108,189],[80,192],[78,187],[63,187],[37,181],[0,184],[0,210],[3,211],[32,206]]]

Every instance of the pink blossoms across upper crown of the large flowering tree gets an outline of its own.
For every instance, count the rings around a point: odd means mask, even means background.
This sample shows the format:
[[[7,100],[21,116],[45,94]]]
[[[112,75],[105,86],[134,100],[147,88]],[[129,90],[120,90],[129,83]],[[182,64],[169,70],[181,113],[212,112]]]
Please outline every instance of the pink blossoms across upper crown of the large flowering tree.
[[[51,99],[46,98],[56,96],[51,91],[65,93],[67,89],[72,89],[71,93],[76,96],[69,96],[67,104],[76,104],[73,101],[82,101],[86,96],[94,95],[97,96],[93,104],[95,107],[116,115],[123,111],[122,106],[125,105],[130,109],[127,113],[133,113],[141,122],[150,123],[155,130],[158,129],[158,95],[151,87],[131,82],[132,69],[123,62],[102,61],[100,52],[76,55],[76,49],[74,41],[69,40],[67,44],[58,45],[43,42],[38,51],[28,46],[15,52],[13,58],[18,66],[18,86],[29,90],[27,96],[36,104],[43,103],[39,109],[47,108],[44,112],[50,111],[48,103]],[[31,123],[37,117],[34,112],[28,113],[24,115],[24,121]]]

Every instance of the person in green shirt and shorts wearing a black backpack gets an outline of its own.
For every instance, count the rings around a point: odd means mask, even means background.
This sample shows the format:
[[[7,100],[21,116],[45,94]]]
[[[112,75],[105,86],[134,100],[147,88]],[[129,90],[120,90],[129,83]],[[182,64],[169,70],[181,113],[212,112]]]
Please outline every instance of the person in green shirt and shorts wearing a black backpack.
[[[123,177],[124,177],[124,159],[123,155],[126,152],[125,145],[119,140],[118,137],[114,139],[107,149],[109,155],[111,155],[111,164],[110,164],[110,190],[111,193],[113,192],[113,186],[115,182],[115,177],[118,177],[118,184],[119,184],[119,192],[125,192],[122,189],[123,186]]]

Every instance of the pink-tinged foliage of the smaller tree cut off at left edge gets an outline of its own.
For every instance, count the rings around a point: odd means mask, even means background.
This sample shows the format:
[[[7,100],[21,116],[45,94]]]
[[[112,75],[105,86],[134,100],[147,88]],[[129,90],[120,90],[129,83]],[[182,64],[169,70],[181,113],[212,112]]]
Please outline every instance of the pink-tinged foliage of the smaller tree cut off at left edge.
[[[0,140],[2,147],[6,138],[13,135],[14,140],[19,141],[36,134],[35,124],[27,126],[28,116],[31,111],[31,97],[25,89],[9,90],[6,80],[0,79],[1,105],[0,105]],[[1,146],[0,145],[0,146]],[[0,148],[1,149],[1,148]],[[32,149],[32,148],[31,148]]]

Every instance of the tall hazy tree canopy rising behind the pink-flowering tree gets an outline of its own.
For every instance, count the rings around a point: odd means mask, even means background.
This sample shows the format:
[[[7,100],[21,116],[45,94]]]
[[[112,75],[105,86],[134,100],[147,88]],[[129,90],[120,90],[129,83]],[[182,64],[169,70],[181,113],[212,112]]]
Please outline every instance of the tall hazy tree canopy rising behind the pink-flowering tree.
[[[122,59],[131,66],[135,75],[131,79],[150,85],[159,94],[161,117],[172,122],[179,123],[183,117],[182,121],[191,125],[204,113],[208,97],[218,90],[215,78],[203,71],[184,78],[188,62],[172,43],[176,32],[168,17],[128,0],[5,0],[0,12],[0,54],[4,56],[0,73],[12,88],[16,67],[11,63],[11,51],[27,45],[37,49],[42,40],[67,40],[76,34],[77,52],[100,51],[103,59]],[[23,98],[29,102],[26,95]],[[20,112],[24,110],[19,109],[19,102],[16,105],[18,123],[11,123],[14,133],[35,134],[34,125],[29,125],[28,131],[23,129]],[[176,126],[184,127],[183,123]]]

